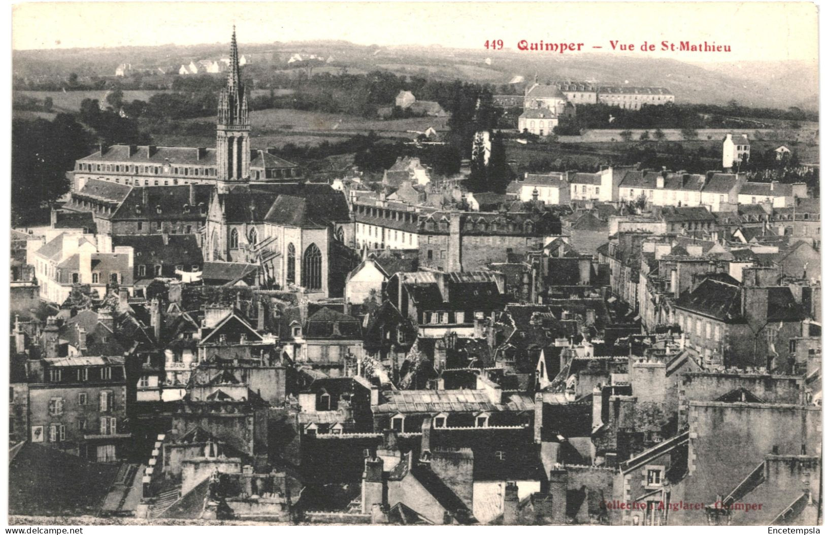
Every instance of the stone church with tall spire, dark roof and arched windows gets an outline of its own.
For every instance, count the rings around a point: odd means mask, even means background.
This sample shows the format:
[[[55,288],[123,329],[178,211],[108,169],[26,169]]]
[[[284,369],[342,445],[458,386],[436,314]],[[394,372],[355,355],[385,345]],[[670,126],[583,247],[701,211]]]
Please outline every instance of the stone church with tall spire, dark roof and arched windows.
[[[340,295],[358,262],[347,199],[328,184],[251,180],[247,91],[233,34],[218,108],[215,189],[202,243],[206,261],[262,265],[259,282],[303,289],[309,298]],[[353,263],[354,262],[354,263]]]

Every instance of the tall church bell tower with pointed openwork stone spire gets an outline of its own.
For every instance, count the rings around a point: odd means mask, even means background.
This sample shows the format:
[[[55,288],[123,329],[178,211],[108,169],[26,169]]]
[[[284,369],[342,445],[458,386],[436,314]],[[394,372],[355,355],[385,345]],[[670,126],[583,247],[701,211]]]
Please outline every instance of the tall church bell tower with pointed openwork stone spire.
[[[225,193],[229,186],[249,180],[249,109],[246,88],[241,83],[238,42],[232,27],[232,49],[229,73],[218,100],[218,190]]]

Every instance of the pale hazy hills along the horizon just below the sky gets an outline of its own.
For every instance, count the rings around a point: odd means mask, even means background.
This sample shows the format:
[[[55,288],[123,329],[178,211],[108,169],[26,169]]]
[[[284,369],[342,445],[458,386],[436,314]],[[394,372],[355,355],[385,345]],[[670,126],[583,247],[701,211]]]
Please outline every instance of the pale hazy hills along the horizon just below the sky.
[[[119,63],[135,67],[179,65],[192,59],[217,58],[228,44],[158,45],[111,49],[17,50],[12,67],[20,77],[111,76]],[[676,59],[618,54],[533,54],[502,51],[353,45],[342,40],[268,44],[240,44],[252,58],[255,76],[266,69],[285,67],[289,54],[332,55],[336,66],[358,70],[384,69],[433,79],[459,78],[467,82],[506,84],[514,77],[532,80],[589,80],[630,86],[663,86],[677,102],[742,106],[799,106],[818,110],[818,67],[815,63],[742,62],[695,63]],[[490,59],[485,63],[485,59]]]

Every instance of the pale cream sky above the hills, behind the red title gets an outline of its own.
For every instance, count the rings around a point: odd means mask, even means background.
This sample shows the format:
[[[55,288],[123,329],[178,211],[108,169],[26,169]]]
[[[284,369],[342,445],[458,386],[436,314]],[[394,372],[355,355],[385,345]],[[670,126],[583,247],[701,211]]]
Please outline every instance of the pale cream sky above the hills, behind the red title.
[[[507,48],[544,40],[607,54],[617,40],[637,49],[623,54],[691,62],[816,62],[816,9],[813,2],[26,2],[13,7],[12,48],[225,43],[235,24],[239,43],[484,49],[487,40]],[[732,51],[641,53],[645,40],[706,40]]]

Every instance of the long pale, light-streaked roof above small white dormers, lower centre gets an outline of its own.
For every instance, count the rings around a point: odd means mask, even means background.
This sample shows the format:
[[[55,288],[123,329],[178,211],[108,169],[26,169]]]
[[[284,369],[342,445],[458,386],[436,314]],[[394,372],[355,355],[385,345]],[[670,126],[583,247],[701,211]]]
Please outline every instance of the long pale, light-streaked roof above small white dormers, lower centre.
[[[397,390],[380,393],[375,413],[532,411],[535,402],[526,394],[502,395],[493,403],[486,390]]]

